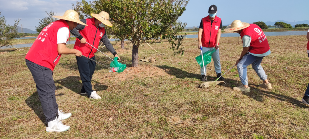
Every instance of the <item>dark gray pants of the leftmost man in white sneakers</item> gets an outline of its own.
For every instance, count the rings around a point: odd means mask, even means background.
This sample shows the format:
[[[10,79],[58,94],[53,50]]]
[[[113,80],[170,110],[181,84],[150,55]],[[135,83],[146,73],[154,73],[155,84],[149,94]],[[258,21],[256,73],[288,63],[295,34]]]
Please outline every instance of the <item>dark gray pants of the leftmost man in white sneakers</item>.
[[[58,111],[58,104],[55,97],[55,82],[53,79],[53,72],[49,68],[40,66],[26,59],[26,65],[31,71],[34,82],[36,83],[36,90],[38,91],[43,113],[46,122],[55,120]]]

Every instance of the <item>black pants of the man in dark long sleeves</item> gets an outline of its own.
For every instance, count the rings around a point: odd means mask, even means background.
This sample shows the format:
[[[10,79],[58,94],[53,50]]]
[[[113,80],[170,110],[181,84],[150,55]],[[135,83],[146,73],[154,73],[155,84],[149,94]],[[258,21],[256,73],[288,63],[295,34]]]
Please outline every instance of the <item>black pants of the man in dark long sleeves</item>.
[[[91,59],[95,60],[95,56],[91,57]],[[80,78],[82,79],[83,87],[82,93],[87,93],[88,97],[90,97],[92,90],[91,78],[93,73],[95,72],[95,61],[91,61],[85,57],[76,57],[77,66],[79,70]]]

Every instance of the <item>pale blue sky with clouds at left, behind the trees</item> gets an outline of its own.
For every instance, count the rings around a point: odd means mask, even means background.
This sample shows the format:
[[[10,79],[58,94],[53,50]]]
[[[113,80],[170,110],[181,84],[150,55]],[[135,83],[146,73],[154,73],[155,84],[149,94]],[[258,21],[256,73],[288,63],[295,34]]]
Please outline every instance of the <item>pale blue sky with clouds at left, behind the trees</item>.
[[[39,19],[46,16],[45,11],[63,15],[66,10],[72,9],[76,0],[0,0],[0,3],[1,16],[6,17],[7,24],[21,19],[19,26],[23,24],[24,28],[35,31]],[[199,26],[213,4],[218,7],[217,16],[222,19],[222,25],[229,25],[237,19],[247,23],[309,20],[309,0],[190,0],[179,20],[186,22],[187,27]]]

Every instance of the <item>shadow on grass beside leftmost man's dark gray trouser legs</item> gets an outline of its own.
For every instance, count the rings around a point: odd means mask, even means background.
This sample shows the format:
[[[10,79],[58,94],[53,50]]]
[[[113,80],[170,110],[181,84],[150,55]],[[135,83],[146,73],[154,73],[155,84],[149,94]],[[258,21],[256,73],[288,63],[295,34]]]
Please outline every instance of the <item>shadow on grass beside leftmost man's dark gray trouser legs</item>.
[[[34,92],[28,99],[25,100],[25,102],[30,108],[32,108],[32,110],[34,111],[36,116],[40,118],[42,123],[44,123],[45,126],[47,126],[38,92],[37,91]]]

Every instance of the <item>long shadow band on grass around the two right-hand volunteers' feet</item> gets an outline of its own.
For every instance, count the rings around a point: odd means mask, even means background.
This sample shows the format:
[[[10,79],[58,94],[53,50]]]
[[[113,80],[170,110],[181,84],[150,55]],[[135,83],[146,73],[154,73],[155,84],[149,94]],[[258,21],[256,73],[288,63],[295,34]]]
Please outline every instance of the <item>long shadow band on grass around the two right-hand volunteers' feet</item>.
[[[175,67],[171,67],[171,66],[167,66],[167,65],[160,65],[157,66],[163,70],[165,70],[168,74],[174,75],[176,78],[196,78],[196,79],[201,79],[201,75],[200,74],[193,74],[193,73],[188,73],[187,71],[175,68]],[[214,78],[216,79],[216,77],[211,77],[208,76],[208,81],[214,81],[213,79],[210,78]],[[240,80],[234,80],[234,79],[230,79],[230,78],[226,78],[225,82],[227,83],[226,87],[230,87],[231,89],[233,89],[234,86],[239,86],[241,85]],[[261,81],[262,83],[262,81]],[[269,91],[265,91],[263,90],[261,87],[259,87],[258,85],[255,84],[249,84],[250,86],[250,92],[249,93],[245,93],[242,92],[243,95],[247,95],[249,97],[251,97],[252,99],[258,101],[258,102],[263,102],[264,101],[264,97],[269,97],[269,98],[275,98],[278,99],[280,101],[287,101],[291,104],[293,104],[294,106],[297,107],[301,107],[301,108],[309,108],[307,105],[303,104],[301,101],[292,98],[290,96],[286,96],[286,95],[280,95],[277,94],[276,92],[269,90]]]

